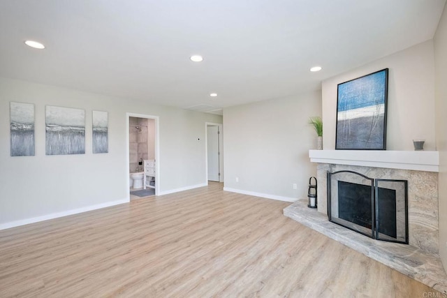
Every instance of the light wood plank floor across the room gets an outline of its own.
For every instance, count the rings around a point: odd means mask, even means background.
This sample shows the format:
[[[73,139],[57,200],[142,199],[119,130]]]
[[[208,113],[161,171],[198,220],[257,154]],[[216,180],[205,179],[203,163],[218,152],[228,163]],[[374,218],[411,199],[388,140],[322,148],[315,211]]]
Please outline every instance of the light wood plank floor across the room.
[[[443,297],[288,204],[210,183],[3,230],[0,297]]]

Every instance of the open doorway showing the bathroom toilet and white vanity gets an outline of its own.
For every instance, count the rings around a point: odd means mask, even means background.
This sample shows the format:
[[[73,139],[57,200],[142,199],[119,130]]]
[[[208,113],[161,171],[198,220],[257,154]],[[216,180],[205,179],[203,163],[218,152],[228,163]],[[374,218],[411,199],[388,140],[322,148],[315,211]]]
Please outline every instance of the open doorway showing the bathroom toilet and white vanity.
[[[127,113],[129,199],[159,193],[159,118]]]

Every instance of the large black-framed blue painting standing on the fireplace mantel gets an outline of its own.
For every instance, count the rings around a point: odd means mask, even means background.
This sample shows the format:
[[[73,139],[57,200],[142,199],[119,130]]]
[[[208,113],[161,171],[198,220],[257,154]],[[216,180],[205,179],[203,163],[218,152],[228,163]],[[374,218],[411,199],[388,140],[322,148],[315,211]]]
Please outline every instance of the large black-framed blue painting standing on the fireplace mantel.
[[[335,149],[386,149],[388,68],[338,85]]]

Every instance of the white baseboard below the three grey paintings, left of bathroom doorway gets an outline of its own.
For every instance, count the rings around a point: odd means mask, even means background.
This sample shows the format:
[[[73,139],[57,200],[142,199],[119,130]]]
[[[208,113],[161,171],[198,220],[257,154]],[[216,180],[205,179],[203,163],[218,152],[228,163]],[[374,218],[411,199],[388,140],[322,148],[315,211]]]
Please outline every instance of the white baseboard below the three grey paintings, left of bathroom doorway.
[[[124,204],[124,203],[128,203],[128,202],[129,202],[129,199],[117,200],[117,201],[112,201],[112,202],[105,202],[103,204],[96,204],[96,205],[91,205],[91,206],[82,207],[82,208],[78,208],[78,209],[72,209],[72,210],[68,210],[68,211],[47,214],[44,216],[22,219],[20,221],[10,221],[9,223],[1,223],[0,230],[14,228],[14,227],[18,227],[20,225],[28,225],[29,223],[38,223],[39,221],[47,221],[47,220],[53,219],[53,218],[59,218],[59,217],[63,217],[63,216],[78,214],[78,213],[101,209],[101,208],[105,208],[105,207],[111,207],[111,206]]]

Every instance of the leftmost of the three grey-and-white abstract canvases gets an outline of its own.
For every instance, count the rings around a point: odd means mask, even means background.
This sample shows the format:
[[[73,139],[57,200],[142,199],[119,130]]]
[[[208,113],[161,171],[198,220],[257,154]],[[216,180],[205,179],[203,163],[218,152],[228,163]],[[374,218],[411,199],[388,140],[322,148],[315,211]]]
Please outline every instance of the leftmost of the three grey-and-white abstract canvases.
[[[34,156],[34,105],[10,103],[11,156]]]

